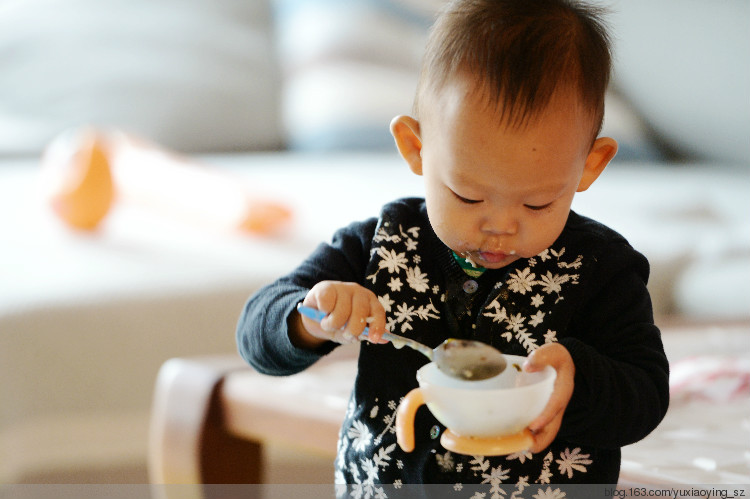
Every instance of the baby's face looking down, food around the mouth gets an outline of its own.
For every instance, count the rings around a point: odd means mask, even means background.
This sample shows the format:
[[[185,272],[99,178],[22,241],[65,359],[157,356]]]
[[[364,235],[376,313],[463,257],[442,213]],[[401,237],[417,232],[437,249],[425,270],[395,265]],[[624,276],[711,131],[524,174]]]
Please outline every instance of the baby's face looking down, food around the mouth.
[[[501,268],[552,245],[591,147],[592,119],[575,103],[553,98],[528,125],[512,128],[461,79],[432,96],[417,173],[430,223],[448,247]]]

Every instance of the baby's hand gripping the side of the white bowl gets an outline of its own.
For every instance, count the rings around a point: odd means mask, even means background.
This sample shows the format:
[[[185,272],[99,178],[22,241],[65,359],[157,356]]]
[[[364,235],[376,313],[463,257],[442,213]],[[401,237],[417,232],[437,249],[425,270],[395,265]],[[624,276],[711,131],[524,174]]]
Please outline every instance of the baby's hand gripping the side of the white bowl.
[[[573,395],[575,364],[567,348],[559,343],[548,343],[534,350],[524,364],[524,370],[529,372],[541,371],[550,365],[557,371],[552,395],[542,413],[529,424],[534,435],[534,445],[531,452],[541,452],[557,436],[560,431],[563,413]]]

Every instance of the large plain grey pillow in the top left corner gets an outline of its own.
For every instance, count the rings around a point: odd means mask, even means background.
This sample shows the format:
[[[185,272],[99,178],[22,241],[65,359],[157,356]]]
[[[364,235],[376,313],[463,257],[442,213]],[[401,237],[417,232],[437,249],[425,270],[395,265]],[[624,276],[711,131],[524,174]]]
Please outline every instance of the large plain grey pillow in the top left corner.
[[[111,126],[185,152],[277,148],[279,72],[262,0],[0,6],[0,154]]]

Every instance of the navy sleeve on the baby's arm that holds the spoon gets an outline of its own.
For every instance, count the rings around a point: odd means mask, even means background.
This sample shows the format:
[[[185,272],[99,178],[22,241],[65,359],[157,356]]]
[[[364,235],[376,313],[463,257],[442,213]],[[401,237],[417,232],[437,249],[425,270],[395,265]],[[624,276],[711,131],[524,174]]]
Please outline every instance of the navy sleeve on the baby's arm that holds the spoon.
[[[315,284],[325,280],[364,280],[376,220],[354,223],[339,230],[330,244],[321,244],[292,273],[261,288],[245,304],[237,323],[237,348],[257,371],[275,376],[300,372],[336,343],[315,351],[295,347],[287,320]]]

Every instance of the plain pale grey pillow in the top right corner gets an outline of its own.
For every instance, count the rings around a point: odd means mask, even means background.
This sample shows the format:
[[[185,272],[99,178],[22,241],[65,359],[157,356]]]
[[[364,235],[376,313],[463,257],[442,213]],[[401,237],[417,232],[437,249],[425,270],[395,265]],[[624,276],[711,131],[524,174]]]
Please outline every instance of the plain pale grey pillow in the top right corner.
[[[617,88],[686,156],[750,165],[750,2],[620,0]]]

